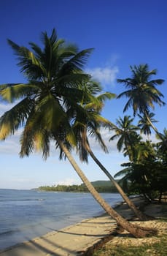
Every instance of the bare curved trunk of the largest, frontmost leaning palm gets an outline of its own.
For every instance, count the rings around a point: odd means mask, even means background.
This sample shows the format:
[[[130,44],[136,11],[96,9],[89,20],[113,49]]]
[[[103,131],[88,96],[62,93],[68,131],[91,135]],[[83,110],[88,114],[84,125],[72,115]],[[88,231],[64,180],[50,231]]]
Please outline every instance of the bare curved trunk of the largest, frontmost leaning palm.
[[[90,181],[88,181],[88,178],[86,178],[85,174],[79,168],[79,166],[77,165],[77,162],[75,162],[74,158],[71,156],[71,154],[69,153],[69,150],[63,144],[63,142],[58,138],[56,139],[59,143],[59,146],[61,146],[62,151],[64,152],[64,154],[66,154],[66,157],[69,159],[69,162],[74,167],[74,170],[76,170],[78,176],[82,179],[83,183],[88,188],[89,192],[93,195],[93,197],[101,205],[101,207],[104,208],[107,214],[109,214],[113,219],[117,221],[117,223],[121,227],[123,227],[125,230],[128,230],[128,232],[131,233],[136,238],[141,238],[148,235],[150,236],[152,233],[155,233],[155,230],[142,229],[141,227],[131,224],[126,219],[124,219],[119,214],[117,214],[117,211],[114,211],[114,209],[111,206],[109,206],[108,203],[106,203],[106,201],[101,197],[101,195],[98,194],[98,192],[90,183]]]

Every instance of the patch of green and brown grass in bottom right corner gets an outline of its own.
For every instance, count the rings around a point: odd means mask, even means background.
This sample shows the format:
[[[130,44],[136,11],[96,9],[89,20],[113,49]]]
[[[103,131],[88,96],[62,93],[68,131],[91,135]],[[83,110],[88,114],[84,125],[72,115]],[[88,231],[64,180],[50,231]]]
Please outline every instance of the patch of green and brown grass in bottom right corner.
[[[167,219],[158,220],[167,222]],[[93,256],[166,256],[167,233],[158,236],[159,241],[154,244],[142,244],[141,246],[105,244],[101,249],[94,252]]]

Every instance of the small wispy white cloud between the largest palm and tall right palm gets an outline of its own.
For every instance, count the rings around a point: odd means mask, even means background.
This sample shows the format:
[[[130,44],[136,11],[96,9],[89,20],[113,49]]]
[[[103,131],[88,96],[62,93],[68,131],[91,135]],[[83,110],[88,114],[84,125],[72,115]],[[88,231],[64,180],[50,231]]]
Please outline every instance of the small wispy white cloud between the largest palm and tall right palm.
[[[114,83],[119,69],[117,66],[95,67],[93,69],[87,69],[86,72],[92,75],[93,78],[98,80],[99,82],[104,83],[105,85],[113,86],[112,83]]]

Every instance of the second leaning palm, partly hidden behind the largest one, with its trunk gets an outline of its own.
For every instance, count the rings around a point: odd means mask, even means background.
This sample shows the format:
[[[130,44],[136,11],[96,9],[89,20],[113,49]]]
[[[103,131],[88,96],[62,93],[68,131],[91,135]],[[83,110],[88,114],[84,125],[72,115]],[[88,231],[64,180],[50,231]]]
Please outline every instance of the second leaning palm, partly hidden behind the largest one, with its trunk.
[[[139,219],[147,219],[147,217],[139,211],[138,208],[133,204],[133,202],[125,195],[125,192],[123,192],[123,189],[120,187],[119,184],[114,180],[112,175],[109,173],[108,170],[102,165],[102,163],[97,159],[95,154],[93,153],[90,143],[88,140],[88,137],[93,137],[98,141],[101,148],[105,151],[107,151],[106,145],[104,143],[104,140],[101,138],[101,127],[113,127],[113,124],[108,121],[106,118],[100,115],[100,111],[104,105],[104,101],[106,99],[111,99],[115,97],[114,94],[111,94],[109,92],[99,94],[101,91],[101,86],[96,83],[95,81],[90,80],[88,83],[82,84],[82,88],[85,91],[90,92],[93,95],[96,95],[98,92],[98,96],[96,96],[96,102],[91,99],[91,102],[85,102],[84,99],[82,99],[82,102],[80,104],[85,108],[87,116],[82,116],[81,113],[78,113],[75,117],[75,121],[73,124],[74,133],[77,138],[77,144],[78,144],[78,152],[79,152],[79,158],[82,162],[88,162],[88,154],[93,159],[94,162],[101,168],[101,170],[106,174],[106,176],[109,178],[110,181],[112,181],[112,184],[114,184],[114,187],[116,187],[117,191],[120,193],[120,195],[123,197],[125,202],[128,204],[128,206],[132,209],[132,211],[136,214]],[[98,101],[97,101],[98,100]],[[132,129],[132,126],[131,126]],[[136,131],[136,129],[139,129],[137,127],[133,126],[133,130]]]

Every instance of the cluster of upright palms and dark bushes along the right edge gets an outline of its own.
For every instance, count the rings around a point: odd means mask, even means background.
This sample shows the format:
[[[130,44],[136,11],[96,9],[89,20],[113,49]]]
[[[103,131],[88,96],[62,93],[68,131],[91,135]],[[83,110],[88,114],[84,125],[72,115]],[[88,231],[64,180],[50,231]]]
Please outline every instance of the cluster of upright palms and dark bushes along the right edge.
[[[138,113],[138,125],[133,125],[134,118],[124,116],[117,120],[117,126],[113,127],[115,135],[110,138],[119,138],[117,141],[118,151],[123,151],[128,156],[130,162],[123,163],[125,167],[120,170],[116,177],[122,177],[123,188],[128,189],[128,194],[141,194],[148,200],[159,201],[163,193],[167,191],[167,165],[166,151],[167,138],[166,128],[163,134],[158,132],[153,123],[156,123],[155,113],[150,112],[150,108],[155,108],[154,103],[165,105],[161,97],[163,94],[155,86],[161,85],[164,80],[150,80],[152,75],[156,75],[156,70],[149,71],[148,65],[131,67],[132,78],[118,79],[123,83],[128,91],[124,91],[117,96],[118,99],[125,96],[128,102],[125,105],[124,112],[132,106],[133,116]],[[150,140],[151,129],[156,132],[157,143]],[[144,140],[140,134],[147,135]]]

